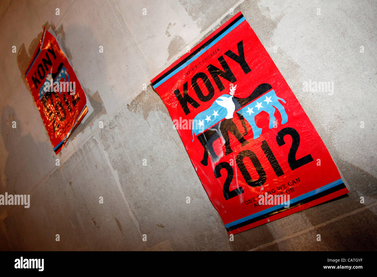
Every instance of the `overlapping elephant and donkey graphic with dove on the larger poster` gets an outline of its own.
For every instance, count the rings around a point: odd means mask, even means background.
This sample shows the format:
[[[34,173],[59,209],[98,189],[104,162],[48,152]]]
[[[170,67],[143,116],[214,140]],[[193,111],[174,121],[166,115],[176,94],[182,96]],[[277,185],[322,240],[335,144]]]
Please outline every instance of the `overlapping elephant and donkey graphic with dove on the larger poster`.
[[[193,141],[196,136],[204,148],[201,163],[208,165],[208,156],[212,158],[213,162],[217,162],[221,158],[216,155],[213,149],[213,142],[219,138],[225,145],[225,155],[233,152],[230,146],[229,132],[236,137],[242,146],[248,144],[248,141],[244,138],[248,134],[245,121],[249,122],[252,128],[253,139],[259,138],[262,129],[257,127],[255,116],[262,111],[267,112],[270,116],[270,129],[274,127],[274,121],[276,121],[274,116],[276,109],[280,112],[282,124],[285,124],[288,121],[288,116],[279,100],[285,103],[284,99],[277,97],[270,84],[264,83],[257,86],[246,98],[227,94],[221,95],[207,110],[198,113],[193,121],[192,134]],[[236,115],[244,128],[242,133],[233,122],[235,111],[237,111]]]

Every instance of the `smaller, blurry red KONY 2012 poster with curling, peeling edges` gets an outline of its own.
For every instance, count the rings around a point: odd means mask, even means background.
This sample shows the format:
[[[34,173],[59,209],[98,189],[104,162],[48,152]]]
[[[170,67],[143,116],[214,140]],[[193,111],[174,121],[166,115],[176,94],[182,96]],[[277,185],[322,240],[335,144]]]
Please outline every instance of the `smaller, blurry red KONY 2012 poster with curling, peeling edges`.
[[[86,115],[85,92],[55,37],[43,35],[25,72],[55,153]]]

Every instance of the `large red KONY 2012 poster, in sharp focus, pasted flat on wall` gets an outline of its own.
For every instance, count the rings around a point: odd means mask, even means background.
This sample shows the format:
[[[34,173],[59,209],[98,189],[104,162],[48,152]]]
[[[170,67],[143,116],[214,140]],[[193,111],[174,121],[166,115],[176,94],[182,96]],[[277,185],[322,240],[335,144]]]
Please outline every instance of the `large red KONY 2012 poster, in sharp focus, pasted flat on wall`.
[[[348,193],[241,12],[151,82],[229,234]]]

